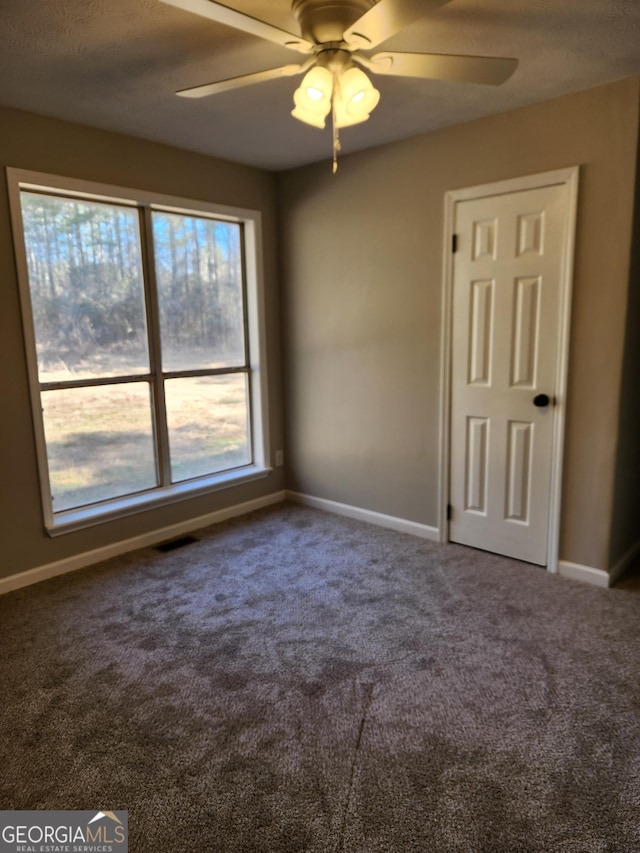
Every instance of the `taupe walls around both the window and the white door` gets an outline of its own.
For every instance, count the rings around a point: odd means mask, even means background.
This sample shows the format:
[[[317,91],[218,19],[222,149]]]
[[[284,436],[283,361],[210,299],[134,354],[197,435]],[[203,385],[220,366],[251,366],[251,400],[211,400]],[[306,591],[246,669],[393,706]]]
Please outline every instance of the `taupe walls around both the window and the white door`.
[[[607,568],[635,544],[639,91],[634,78],[345,157],[335,177],[329,160],[278,177],[290,488],[437,524],[444,193],[580,164],[561,556]],[[0,127],[0,577],[281,489],[278,470],[225,492],[46,536],[4,166],[262,211],[273,448],[283,434],[276,178],[4,108]]]

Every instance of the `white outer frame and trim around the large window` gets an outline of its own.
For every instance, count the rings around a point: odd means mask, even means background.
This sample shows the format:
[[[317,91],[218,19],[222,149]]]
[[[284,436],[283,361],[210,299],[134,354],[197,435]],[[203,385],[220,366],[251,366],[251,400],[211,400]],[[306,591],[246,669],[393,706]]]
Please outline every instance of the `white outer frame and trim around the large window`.
[[[40,493],[44,527],[50,536],[80,530],[114,518],[131,515],[136,511],[148,510],[185,498],[238,486],[268,476],[269,466],[269,413],[267,386],[266,324],[264,304],[264,280],[262,268],[262,219],[259,211],[227,205],[178,198],[146,190],[110,186],[75,178],[49,175],[24,169],[7,167],[9,206],[13,230],[18,284],[22,305],[22,324],[26,349],[36,455],[40,477]],[[125,204],[138,209],[157,210],[182,215],[206,215],[215,219],[238,223],[244,234],[244,282],[246,295],[246,326],[249,367],[249,395],[251,411],[252,463],[219,474],[199,477],[180,483],[156,486],[146,492],[121,498],[101,501],[77,509],[54,512],[51,499],[47,446],[40,397],[40,379],[36,355],[36,340],[33,325],[31,291],[27,267],[27,254],[22,222],[20,193],[60,192],[66,196]]]

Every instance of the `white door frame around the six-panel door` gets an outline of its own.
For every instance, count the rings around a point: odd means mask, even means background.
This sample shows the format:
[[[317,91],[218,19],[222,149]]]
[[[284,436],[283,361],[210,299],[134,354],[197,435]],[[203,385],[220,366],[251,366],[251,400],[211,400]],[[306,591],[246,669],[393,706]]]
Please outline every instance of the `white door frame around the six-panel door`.
[[[541,172],[520,178],[480,184],[451,190],[444,199],[444,249],[441,308],[440,352],[440,471],[438,500],[438,530],[440,542],[449,541],[450,429],[451,429],[451,346],[453,322],[453,269],[452,250],[455,234],[456,205],[472,199],[507,195],[524,190],[565,185],[568,191],[564,257],[560,274],[560,315],[558,327],[558,356],[555,370],[556,404],[553,407],[553,446],[551,451],[551,494],[549,496],[549,533],[547,538],[547,571],[558,571],[560,544],[560,510],[562,497],[562,471],[564,457],[564,432],[566,422],[567,380],[569,370],[569,333],[571,324],[571,293],[573,285],[575,233],[578,207],[579,166]]]

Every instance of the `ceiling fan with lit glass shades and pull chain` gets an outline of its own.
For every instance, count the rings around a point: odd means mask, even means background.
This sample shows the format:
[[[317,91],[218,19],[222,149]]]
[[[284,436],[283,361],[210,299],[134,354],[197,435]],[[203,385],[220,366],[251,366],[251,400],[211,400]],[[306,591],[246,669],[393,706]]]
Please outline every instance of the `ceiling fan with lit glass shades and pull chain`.
[[[495,56],[456,56],[440,53],[368,52],[450,0],[292,0],[291,10],[301,35],[282,30],[214,0],[161,0],[220,24],[251,33],[301,54],[299,64],[243,74],[215,83],[181,89],[178,95],[202,98],[241,86],[305,74],[296,89],[292,115],[323,128],[331,113],[334,172],[340,148],[338,130],[369,118],[380,100],[362,70],[373,74],[455,80],[499,85],[518,65],[517,59]],[[306,72],[306,73],[305,73]]]

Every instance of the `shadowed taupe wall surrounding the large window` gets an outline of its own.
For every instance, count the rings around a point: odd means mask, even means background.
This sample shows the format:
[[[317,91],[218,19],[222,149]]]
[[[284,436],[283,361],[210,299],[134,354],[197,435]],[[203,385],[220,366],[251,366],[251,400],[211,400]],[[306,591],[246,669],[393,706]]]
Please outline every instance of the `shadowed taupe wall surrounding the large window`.
[[[187,521],[282,488],[267,479],[50,539],[44,532],[27,387],[5,166],[262,212],[272,447],[282,446],[274,176],[167,146],[0,108],[0,577]]]

